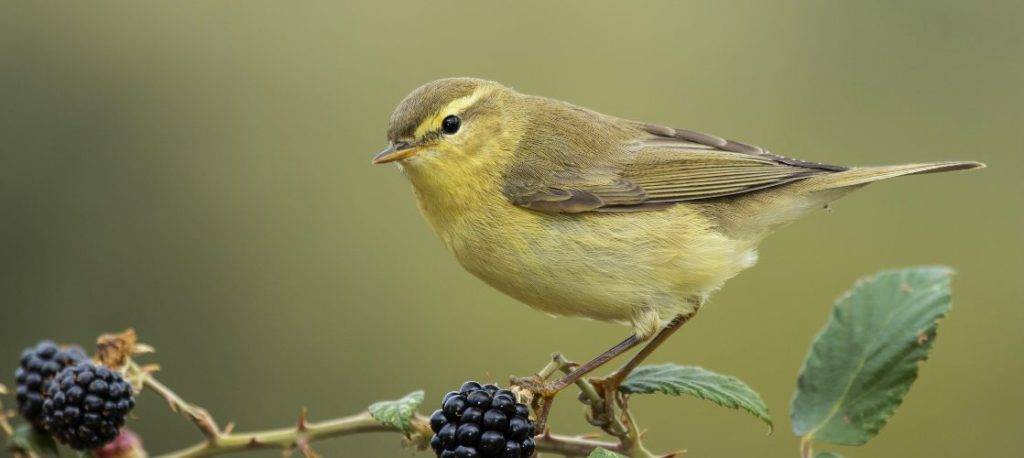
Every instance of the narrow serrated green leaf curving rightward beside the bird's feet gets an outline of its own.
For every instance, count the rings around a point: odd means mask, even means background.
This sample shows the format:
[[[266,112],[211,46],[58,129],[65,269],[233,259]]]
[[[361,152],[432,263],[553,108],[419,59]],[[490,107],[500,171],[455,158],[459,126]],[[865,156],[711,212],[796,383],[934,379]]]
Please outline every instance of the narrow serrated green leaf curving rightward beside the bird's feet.
[[[716,374],[695,366],[641,366],[626,378],[618,389],[627,394],[689,394],[719,406],[745,410],[768,423],[769,430],[772,427],[768,407],[757,391],[736,377]]]

